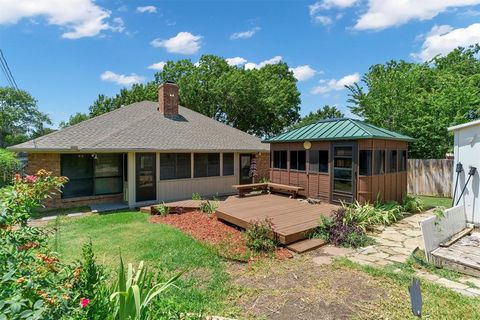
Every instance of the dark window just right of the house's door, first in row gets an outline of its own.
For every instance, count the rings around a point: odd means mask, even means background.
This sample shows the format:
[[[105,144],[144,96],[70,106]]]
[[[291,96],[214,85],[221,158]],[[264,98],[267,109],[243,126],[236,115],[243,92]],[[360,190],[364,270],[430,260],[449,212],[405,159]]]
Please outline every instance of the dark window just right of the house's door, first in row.
[[[190,153],[161,153],[160,180],[191,178]]]

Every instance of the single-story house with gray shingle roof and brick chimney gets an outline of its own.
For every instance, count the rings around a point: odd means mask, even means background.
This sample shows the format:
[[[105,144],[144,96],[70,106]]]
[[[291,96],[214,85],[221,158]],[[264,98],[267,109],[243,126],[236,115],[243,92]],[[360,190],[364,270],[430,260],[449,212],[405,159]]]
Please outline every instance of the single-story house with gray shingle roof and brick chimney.
[[[268,176],[268,145],[179,106],[178,92],[164,83],[158,102],[133,103],[10,150],[28,153],[29,174],[69,178],[48,207],[230,194],[232,185],[251,182],[252,157],[259,176]]]

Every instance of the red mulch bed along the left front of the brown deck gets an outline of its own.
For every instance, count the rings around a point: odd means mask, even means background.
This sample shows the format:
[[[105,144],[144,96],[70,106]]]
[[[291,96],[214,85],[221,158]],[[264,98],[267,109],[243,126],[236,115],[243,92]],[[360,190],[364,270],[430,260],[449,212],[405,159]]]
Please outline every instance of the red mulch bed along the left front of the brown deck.
[[[221,249],[221,254],[226,257],[247,257],[249,250],[242,232],[217,219],[215,215],[207,215],[199,211],[182,214],[169,214],[167,216],[152,216],[152,223],[163,223],[174,226],[193,238],[208,245]],[[285,248],[278,248],[275,256],[279,260],[292,258],[292,254]],[[252,260],[251,258],[249,260]]]

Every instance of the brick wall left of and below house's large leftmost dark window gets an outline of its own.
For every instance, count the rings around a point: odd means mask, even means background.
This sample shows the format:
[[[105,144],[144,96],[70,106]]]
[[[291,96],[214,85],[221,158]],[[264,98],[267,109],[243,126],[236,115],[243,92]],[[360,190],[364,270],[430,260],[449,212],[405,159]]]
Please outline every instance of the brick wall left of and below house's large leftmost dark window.
[[[35,174],[40,169],[50,171],[54,176],[60,176],[60,154],[29,153],[26,168],[27,174]],[[47,199],[44,205],[47,209],[73,208],[89,206],[92,203],[119,202],[122,200],[123,194],[62,199],[60,193],[56,193],[51,199]]]

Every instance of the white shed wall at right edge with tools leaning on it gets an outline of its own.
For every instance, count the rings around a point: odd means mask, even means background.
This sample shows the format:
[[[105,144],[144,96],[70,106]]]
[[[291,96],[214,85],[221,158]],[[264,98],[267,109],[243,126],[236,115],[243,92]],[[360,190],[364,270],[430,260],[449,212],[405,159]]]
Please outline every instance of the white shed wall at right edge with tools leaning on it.
[[[477,172],[470,179],[464,194],[462,195],[459,205],[465,206],[465,213],[469,223],[480,224],[480,203],[479,188],[480,179],[478,170],[480,170],[480,124],[460,128],[454,131],[454,171],[452,196],[455,188],[457,174],[455,167],[458,162],[463,165],[463,172],[459,176],[456,200],[460,196],[463,186],[468,179],[469,166],[477,168]]]

